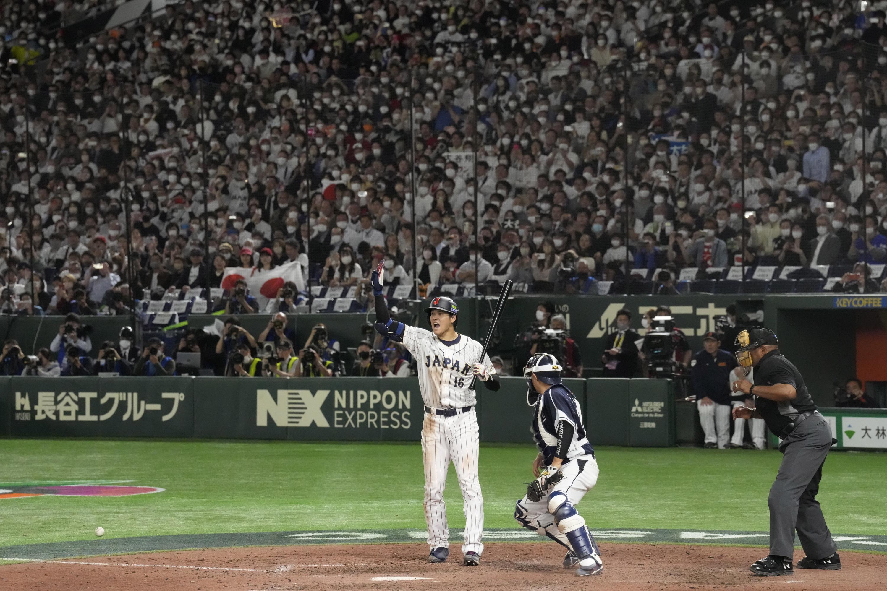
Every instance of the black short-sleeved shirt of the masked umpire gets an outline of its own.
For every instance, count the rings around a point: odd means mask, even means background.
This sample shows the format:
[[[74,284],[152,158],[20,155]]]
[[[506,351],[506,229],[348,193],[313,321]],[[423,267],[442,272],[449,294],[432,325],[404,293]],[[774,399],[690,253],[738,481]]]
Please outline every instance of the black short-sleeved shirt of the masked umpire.
[[[804,378],[792,362],[781,354],[779,349],[773,349],[761,357],[761,361],[755,366],[755,385],[789,384],[795,386],[797,396],[795,400],[776,402],[755,396],[755,408],[764,418],[767,427],[773,434],[779,436],[786,426],[794,421],[803,412],[816,410]]]

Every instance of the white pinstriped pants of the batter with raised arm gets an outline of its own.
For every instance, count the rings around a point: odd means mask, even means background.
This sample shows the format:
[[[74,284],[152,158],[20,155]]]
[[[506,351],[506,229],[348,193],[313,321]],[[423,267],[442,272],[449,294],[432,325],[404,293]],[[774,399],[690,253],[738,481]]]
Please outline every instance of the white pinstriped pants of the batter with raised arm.
[[[428,546],[450,548],[443,489],[452,462],[465,501],[465,543],[462,554],[483,552],[483,495],[478,476],[480,439],[475,409],[456,416],[425,413],[422,422],[422,462],[425,465],[425,522]]]

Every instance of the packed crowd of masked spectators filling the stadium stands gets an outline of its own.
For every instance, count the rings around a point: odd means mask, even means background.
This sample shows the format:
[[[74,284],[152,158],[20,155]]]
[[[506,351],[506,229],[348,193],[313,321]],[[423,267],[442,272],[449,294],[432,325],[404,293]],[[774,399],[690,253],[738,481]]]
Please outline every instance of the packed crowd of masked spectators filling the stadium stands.
[[[887,3],[188,1],[65,42],[91,4],[0,7],[0,312],[295,261],[302,293],[885,290]]]

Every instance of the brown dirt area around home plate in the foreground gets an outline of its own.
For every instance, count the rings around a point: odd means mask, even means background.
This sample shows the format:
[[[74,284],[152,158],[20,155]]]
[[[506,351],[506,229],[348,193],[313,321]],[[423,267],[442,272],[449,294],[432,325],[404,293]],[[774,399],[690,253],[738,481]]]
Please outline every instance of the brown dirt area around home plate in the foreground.
[[[561,568],[549,543],[488,544],[480,566],[428,564],[424,544],[217,548],[0,566],[0,589],[14,591],[284,591],[289,589],[421,589],[450,591],[581,587],[628,589],[755,589],[816,591],[883,589],[887,556],[845,552],[839,572],[797,570],[754,577],[748,566],[764,548],[603,543],[604,574],[577,578]],[[796,553],[796,559],[800,558]],[[385,578],[385,579],[380,579]],[[787,586],[787,584],[789,584]]]

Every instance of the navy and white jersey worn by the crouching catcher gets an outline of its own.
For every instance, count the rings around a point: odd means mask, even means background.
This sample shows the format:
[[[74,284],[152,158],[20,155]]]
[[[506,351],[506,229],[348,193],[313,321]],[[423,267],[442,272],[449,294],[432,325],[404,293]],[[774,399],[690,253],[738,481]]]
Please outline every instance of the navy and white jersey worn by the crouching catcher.
[[[573,440],[569,444],[568,463],[580,455],[593,455],[594,449],[585,436],[585,424],[582,422],[582,410],[579,402],[562,384],[556,384],[546,390],[539,397],[534,407],[533,422],[530,431],[533,433],[533,442],[536,443],[539,452],[545,457],[546,465],[550,465],[554,459],[557,448],[557,424],[567,421],[573,425]]]

